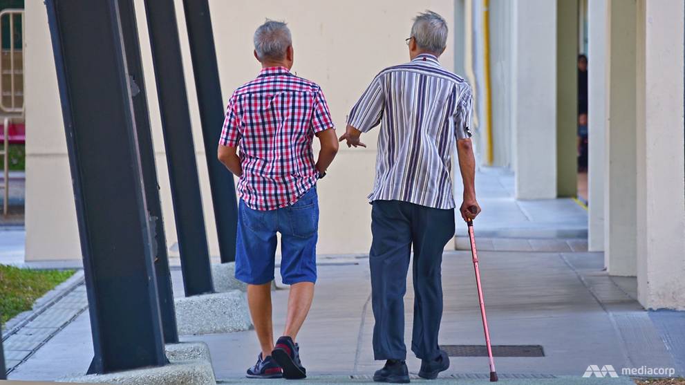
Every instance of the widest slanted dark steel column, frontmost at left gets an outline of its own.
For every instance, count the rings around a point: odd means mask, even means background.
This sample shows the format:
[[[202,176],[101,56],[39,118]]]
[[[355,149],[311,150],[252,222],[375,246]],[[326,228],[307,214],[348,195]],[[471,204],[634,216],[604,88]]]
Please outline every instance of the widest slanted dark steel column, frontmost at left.
[[[47,0],[84,259],[90,373],[165,364],[118,2]]]

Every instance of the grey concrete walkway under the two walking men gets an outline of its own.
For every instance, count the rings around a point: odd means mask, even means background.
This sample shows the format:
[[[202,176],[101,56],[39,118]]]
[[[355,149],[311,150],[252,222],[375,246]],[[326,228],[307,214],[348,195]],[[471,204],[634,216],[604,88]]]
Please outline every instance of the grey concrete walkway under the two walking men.
[[[484,209],[476,220],[485,303],[495,345],[539,345],[542,357],[496,357],[509,384],[630,384],[623,368],[674,368],[685,375],[684,314],[646,312],[635,301],[635,279],[603,272],[603,255],[583,251],[586,214],[573,200],[517,202],[506,171],[478,174]],[[458,223],[458,236],[465,225]],[[462,241],[457,238],[457,246]],[[482,345],[482,325],[470,252],[445,252],[440,343]],[[182,295],[180,271],[174,291]],[[411,341],[411,275],[406,295],[406,342]],[[283,329],[288,290],[274,292],[274,327]],[[308,384],[368,382],[373,360],[368,256],[320,256],[315,303],[298,342]],[[679,331],[680,330],[680,331]],[[184,336],[205,341],[220,382],[245,383],[258,348],[254,331]],[[10,373],[10,379],[50,380],[83,373],[92,357],[87,312],[68,323]],[[487,358],[452,357],[438,382],[487,382]],[[420,361],[409,354],[409,369]],[[584,379],[590,365],[612,365],[618,379]],[[261,381],[250,381],[261,383]],[[283,382],[268,381],[268,384]]]

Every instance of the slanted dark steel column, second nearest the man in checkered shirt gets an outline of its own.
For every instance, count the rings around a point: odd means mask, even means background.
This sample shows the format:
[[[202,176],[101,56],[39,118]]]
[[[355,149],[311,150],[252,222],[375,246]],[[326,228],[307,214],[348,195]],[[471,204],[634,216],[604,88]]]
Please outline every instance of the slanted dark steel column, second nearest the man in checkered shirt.
[[[173,0],[145,0],[187,296],[214,292]]]

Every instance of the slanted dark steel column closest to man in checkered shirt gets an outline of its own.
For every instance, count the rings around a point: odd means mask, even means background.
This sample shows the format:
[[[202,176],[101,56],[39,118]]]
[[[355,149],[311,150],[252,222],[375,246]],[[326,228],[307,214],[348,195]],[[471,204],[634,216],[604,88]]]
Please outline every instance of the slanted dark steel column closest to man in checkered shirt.
[[[223,126],[224,106],[216,64],[212,19],[209,17],[209,3],[207,0],[183,0],[183,8],[200,106],[219,252],[222,263],[231,262],[236,260],[238,205],[233,175],[216,158],[216,147]]]

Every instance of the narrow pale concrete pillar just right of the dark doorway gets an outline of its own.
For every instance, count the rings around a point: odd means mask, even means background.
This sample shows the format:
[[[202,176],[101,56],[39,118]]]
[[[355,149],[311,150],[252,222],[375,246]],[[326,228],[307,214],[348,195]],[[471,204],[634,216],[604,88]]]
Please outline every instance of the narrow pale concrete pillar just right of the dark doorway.
[[[604,250],[606,0],[588,3],[588,250]]]

